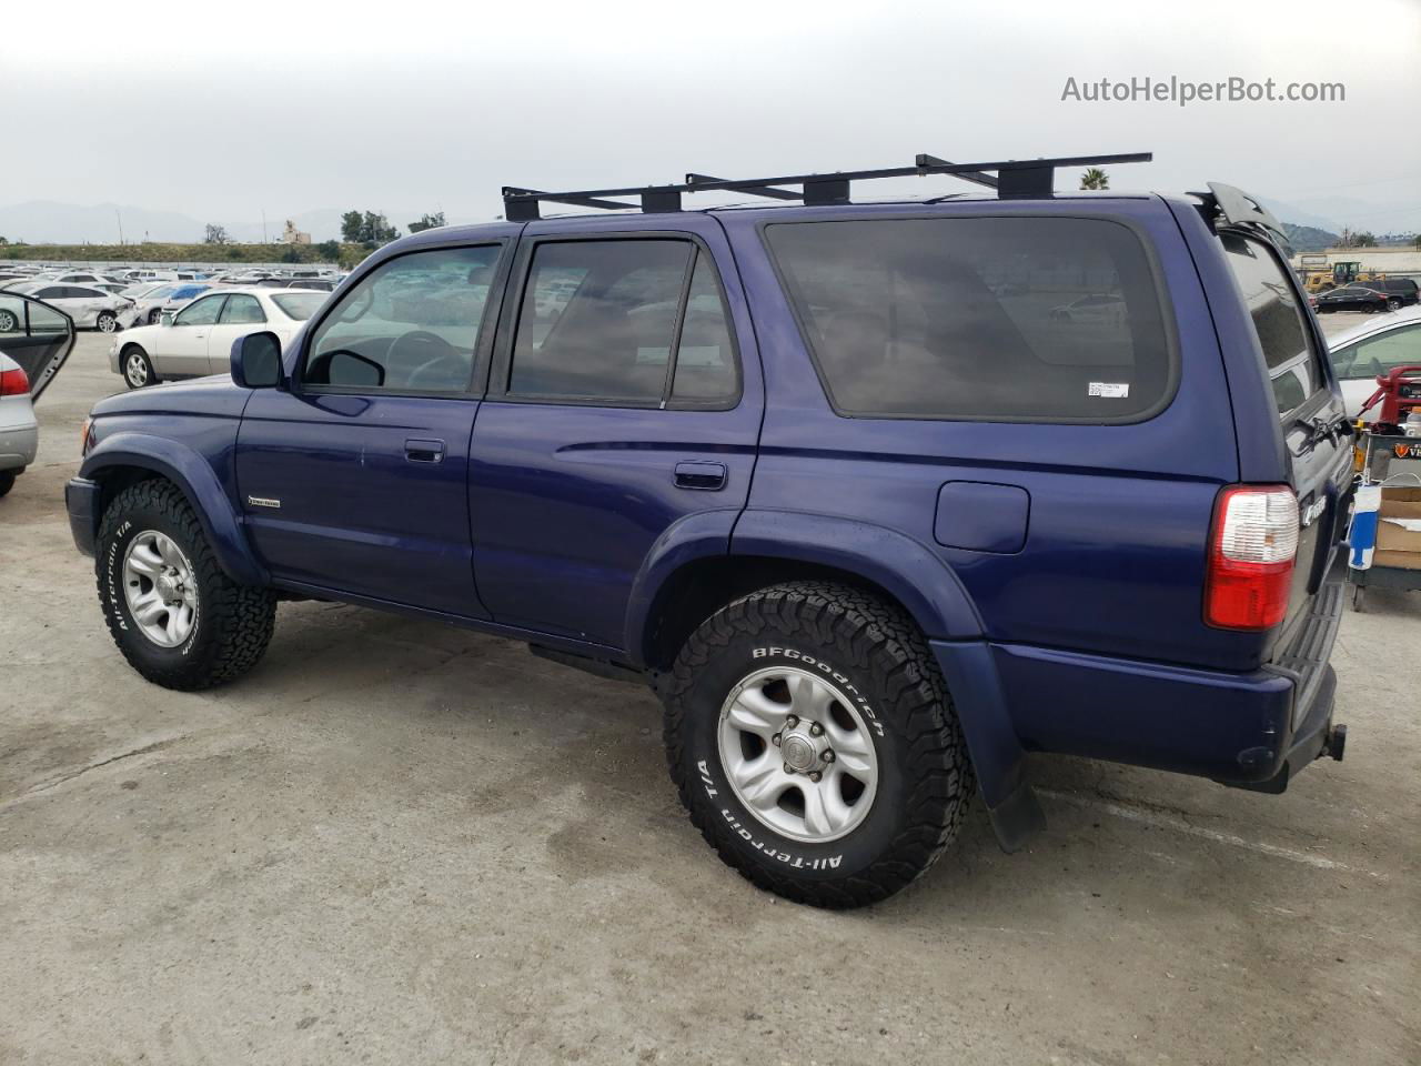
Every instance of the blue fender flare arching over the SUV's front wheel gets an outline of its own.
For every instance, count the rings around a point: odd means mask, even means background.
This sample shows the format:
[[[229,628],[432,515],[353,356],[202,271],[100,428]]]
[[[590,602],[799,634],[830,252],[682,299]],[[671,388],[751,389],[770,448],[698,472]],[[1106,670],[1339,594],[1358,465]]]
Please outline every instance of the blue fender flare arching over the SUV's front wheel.
[[[217,564],[233,581],[267,584],[266,567],[252,553],[232,500],[212,465],[202,455],[168,438],[118,432],[105,436],[94,446],[80,466],[80,476],[99,480],[104,470],[125,466],[152,470],[182,489],[188,503],[198,513],[198,522],[202,523]],[[95,513],[95,526],[101,519],[102,515]]]

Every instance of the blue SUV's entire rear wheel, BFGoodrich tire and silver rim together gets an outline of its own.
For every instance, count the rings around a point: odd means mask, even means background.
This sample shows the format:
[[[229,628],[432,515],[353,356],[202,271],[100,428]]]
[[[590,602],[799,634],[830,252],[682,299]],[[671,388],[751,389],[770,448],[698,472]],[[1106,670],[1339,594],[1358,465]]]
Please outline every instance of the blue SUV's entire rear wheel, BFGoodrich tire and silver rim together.
[[[797,903],[861,907],[911,884],[975,789],[922,635],[844,586],[794,581],[723,607],[664,699],[691,820],[728,866]]]

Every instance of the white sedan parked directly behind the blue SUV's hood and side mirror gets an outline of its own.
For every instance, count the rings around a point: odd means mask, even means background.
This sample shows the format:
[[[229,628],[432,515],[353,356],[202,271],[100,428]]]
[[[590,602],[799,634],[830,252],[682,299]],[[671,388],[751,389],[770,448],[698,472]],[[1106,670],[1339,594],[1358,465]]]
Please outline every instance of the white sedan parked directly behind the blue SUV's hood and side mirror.
[[[226,374],[232,343],[270,330],[287,344],[330,293],[298,289],[219,289],[205,293],[158,325],[128,330],[108,351],[109,367],[129,388],[159,381]]]

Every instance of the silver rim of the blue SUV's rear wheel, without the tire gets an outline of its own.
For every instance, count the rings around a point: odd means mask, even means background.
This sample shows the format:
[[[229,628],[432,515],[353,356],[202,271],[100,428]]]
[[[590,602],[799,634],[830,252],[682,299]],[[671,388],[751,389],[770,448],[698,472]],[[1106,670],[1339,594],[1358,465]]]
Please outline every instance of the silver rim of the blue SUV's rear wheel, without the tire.
[[[757,669],[730,689],[716,729],[742,806],[790,840],[853,833],[878,792],[868,725],[834,684],[800,667]]]

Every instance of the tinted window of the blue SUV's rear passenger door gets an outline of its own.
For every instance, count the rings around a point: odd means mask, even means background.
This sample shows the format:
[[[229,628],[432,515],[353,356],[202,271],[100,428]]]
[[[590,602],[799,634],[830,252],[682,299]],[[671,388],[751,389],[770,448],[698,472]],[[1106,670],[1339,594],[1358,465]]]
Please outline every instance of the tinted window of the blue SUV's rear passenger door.
[[[715,264],[688,240],[537,246],[509,394],[570,402],[732,402],[735,350]]]

